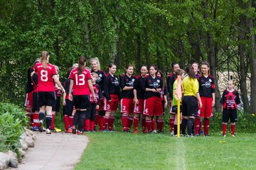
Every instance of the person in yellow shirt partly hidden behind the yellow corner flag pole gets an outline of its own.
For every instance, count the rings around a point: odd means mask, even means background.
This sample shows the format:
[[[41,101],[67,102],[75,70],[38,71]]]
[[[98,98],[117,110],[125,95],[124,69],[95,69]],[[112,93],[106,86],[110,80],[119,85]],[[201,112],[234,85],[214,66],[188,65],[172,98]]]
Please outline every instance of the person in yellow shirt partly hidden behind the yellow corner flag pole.
[[[183,69],[177,69],[177,71],[175,72],[176,76],[180,76],[181,77],[181,80],[184,79],[185,77],[185,71]],[[178,81],[174,81],[174,86],[173,86],[173,89],[174,89],[174,92],[173,92],[173,96],[175,94],[175,91],[177,89],[177,84],[178,84]],[[181,103],[182,104],[182,103]],[[174,121],[174,135],[177,135],[177,123],[178,123],[178,117],[177,117],[177,113],[178,113],[178,101],[177,99],[173,98],[172,100],[172,111],[173,113],[175,113],[175,121]],[[182,118],[182,105],[180,105],[180,117]]]

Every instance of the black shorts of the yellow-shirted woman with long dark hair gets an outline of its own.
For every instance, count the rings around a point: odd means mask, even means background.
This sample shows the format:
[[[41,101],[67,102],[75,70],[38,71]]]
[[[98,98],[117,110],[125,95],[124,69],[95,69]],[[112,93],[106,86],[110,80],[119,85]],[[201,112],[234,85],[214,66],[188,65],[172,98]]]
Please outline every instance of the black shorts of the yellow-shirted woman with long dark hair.
[[[182,115],[196,116],[198,113],[198,101],[195,96],[183,96]]]

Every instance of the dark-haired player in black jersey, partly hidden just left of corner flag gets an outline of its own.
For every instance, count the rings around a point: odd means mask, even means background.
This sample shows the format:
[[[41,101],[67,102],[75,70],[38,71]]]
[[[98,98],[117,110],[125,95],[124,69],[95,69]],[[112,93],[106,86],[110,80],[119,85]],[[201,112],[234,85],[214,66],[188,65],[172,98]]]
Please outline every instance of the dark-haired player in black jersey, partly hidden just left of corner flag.
[[[167,77],[167,89],[168,89],[168,92],[169,92],[169,101],[170,101],[170,108],[172,109],[172,106],[171,106],[171,100],[172,98],[174,98],[173,96],[173,85],[174,85],[174,81],[177,79],[177,76],[175,74],[175,72],[177,71],[177,69],[179,69],[179,65],[177,62],[173,62],[171,64],[171,67],[172,67],[172,73],[169,75],[169,77]],[[170,113],[171,113],[171,116],[170,116],[170,132],[171,134],[173,135],[174,134],[174,120],[175,120],[175,113],[173,111],[171,111],[170,109]]]

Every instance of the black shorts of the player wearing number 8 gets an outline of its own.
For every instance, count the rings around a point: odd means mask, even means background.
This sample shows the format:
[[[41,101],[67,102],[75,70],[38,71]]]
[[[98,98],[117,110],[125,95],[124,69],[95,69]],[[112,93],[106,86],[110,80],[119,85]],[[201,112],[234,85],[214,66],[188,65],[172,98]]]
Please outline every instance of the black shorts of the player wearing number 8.
[[[56,104],[55,91],[39,91],[38,96],[39,96],[39,99],[38,99],[39,107],[55,106]]]

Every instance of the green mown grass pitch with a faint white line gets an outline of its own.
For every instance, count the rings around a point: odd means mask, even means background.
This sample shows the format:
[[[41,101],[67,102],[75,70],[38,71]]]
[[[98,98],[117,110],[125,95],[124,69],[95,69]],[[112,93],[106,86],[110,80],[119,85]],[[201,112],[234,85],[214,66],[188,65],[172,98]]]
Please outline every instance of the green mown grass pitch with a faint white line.
[[[172,137],[89,133],[75,169],[256,169],[256,134]]]

